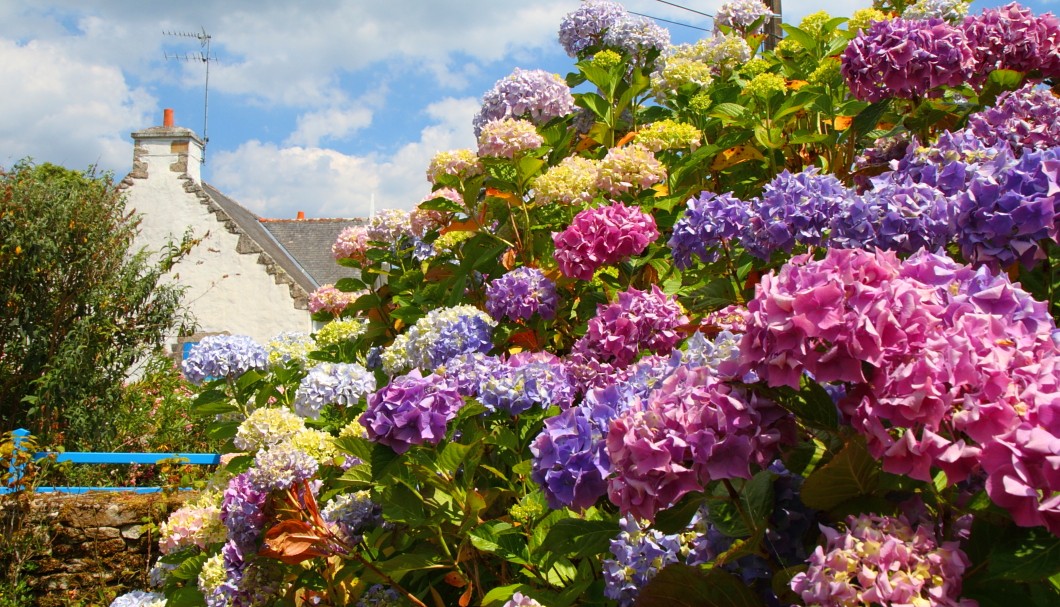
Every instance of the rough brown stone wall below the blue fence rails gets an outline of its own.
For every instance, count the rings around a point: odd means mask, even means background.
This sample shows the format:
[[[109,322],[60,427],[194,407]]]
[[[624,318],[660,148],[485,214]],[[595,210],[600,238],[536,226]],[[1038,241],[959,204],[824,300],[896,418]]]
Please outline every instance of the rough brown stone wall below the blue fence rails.
[[[29,543],[26,534],[37,535],[33,570],[24,578],[39,607],[106,605],[116,593],[147,589],[158,525],[189,497],[187,492],[0,496],[0,520],[11,533],[3,541]]]

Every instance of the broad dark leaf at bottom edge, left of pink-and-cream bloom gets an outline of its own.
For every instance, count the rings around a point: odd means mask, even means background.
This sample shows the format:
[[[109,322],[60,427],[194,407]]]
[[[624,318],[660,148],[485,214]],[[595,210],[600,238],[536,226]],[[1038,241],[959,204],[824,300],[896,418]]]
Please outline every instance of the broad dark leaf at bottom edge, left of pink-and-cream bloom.
[[[754,590],[731,574],[675,563],[640,589],[635,607],[762,607]]]

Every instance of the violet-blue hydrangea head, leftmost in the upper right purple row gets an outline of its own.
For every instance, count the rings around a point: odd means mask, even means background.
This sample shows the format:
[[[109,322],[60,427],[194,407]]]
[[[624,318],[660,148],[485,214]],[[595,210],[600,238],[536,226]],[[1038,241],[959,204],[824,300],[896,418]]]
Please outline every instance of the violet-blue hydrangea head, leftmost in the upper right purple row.
[[[726,247],[746,229],[750,207],[732,193],[704,192],[688,200],[688,209],[677,219],[670,236],[673,264],[681,269],[691,267],[695,255],[704,263],[718,261],[717,247]]]

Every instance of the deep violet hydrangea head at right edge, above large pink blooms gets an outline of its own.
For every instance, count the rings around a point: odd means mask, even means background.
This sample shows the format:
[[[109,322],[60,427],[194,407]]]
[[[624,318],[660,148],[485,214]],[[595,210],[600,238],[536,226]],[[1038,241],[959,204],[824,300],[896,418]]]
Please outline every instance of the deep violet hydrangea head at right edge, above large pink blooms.
[[[1057,237],[1060,148],[1026,151],[1019,160],[997,156],[957,197],[957,243],[961,254],[994,269],[1044,256],[1039,243]]]

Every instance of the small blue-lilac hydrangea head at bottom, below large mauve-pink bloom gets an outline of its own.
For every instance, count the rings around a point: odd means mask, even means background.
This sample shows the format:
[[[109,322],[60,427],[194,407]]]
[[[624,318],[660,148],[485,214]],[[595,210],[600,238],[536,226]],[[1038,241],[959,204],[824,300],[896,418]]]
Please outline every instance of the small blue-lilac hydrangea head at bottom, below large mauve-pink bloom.
[[[636,518],[625,515],[618,520],[622,530],[611,540],[614,558],[603,561],[604,596],[618,601],[619,607],[631,607],[640,593],[667,565],[679,563],[679,534],[665,534]]]

